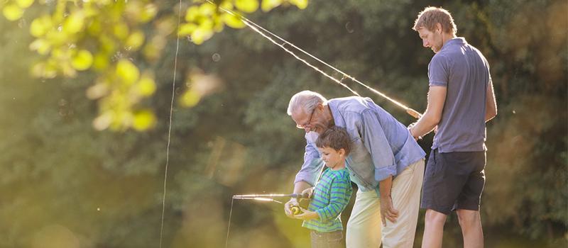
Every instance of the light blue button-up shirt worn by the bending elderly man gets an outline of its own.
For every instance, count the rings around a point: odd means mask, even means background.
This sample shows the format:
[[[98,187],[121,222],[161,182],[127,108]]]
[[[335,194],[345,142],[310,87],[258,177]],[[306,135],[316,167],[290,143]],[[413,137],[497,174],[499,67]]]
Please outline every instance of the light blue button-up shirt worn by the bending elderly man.
[[[351,138],[351,152],[346,158],[349,176],[361,191],[378,189],[378,182],[400,174],[420,159],[425,152],[408,129],[393,115],[376,105],[371,98],[351,96],[333,98],[328,102],[335,125],[345,128]],[[306,135],[304,164],[295,183],[314,185],[324,162],[315,140]]]

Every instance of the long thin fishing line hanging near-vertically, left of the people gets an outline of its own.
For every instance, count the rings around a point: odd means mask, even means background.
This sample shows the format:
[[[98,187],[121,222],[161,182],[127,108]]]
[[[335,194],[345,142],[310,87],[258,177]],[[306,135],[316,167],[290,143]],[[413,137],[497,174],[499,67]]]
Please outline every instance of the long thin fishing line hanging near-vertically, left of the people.
[[[170,103],[170,123],[168,125],[168,145],[165,148],[165,171],[164,171],[164,191],[162,198],[162,219],[160,223],[160,248],[162,248],[163,230],[164,230],[164,213],[165,213],[165,188],[168,181],[168,164],[170,163],[170,140],[172,136],[172,117],[173,117],[173,101],[175,98],[175,76],[178,72],[178,52],[180,51],[180,20],[182,16],[182,0],[180,0],[180,7],[178,9],[178,29],[175,31],[177,41],[175,44],[175,59],[173,63],[173,79],[172,79],[172,101]]]

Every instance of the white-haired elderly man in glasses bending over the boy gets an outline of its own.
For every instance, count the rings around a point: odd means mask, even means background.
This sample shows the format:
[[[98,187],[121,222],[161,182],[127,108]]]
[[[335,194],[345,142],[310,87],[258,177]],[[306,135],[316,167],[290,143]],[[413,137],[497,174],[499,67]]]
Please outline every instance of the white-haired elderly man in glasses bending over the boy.
[[[347,247],[379,247],[381,235],[385,248],[412,247],[425,152],[405,125],[370,98],[328,101],[313,91],[295,94],[288,115],[297,128],[305,130],[307,142],[294,193],[313,186],[324,166],[314,144],[317,135],[333,125],[345,128],[351,139],[346,167],[351,181],[359,186],[347,222]],[[293,217],[290,207],[296,204],[295,198],[285,204],[286,215]]]

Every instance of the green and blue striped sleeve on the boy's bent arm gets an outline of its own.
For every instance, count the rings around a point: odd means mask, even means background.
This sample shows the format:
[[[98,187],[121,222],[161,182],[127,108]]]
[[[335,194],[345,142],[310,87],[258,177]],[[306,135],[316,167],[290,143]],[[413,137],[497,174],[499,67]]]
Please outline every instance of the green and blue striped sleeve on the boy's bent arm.
[[[320,216],[321,221],[329,221],[337,218],[349,203],[351,198],[351,180],[348,177],[333,179],[331,183],[331,193],[329,195],[329,205],[315,210]]]

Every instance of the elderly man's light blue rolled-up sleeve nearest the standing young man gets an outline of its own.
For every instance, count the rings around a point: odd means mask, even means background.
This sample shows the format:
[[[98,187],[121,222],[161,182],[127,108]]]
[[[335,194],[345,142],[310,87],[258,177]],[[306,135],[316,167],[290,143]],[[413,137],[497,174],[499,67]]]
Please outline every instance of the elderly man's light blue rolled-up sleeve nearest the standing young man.
[[[396,175],[396,162],[391,145],[384,133],[378,117],[371,110],[361,113],[361,137],[364,145],[371,154],[375,167],[375,179],[383,181],[388,176]]]

